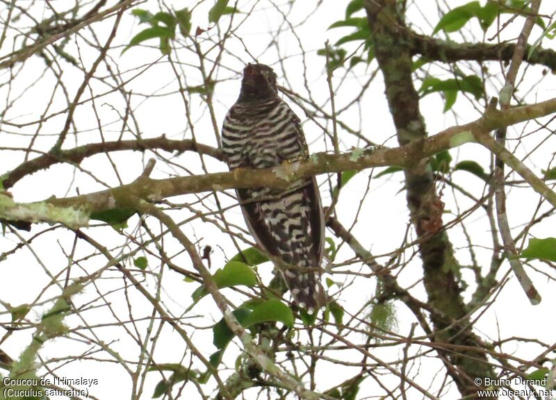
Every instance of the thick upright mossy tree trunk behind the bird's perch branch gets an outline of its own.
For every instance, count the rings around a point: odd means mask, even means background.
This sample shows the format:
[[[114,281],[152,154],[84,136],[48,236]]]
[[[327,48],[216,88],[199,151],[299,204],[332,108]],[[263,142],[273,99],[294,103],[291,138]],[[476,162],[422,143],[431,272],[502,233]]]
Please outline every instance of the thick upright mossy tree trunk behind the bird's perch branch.
[[[407,27],[400,4],[397,0],[366,0],[364,4],[398,142],[418,144],[426,141],[427,129],[413,81],[413,49],[410,40],[401,38]],[[477,343],[477,338],[468,327],[466,305],[461,296],[461,266],[448,234],[441,230],[444,204],[436,189],[429,160],[422,158],[413,167],[405,167],[404,176],[411,223],[420,238],[418,249],[423,260],[423,284],[429,303],[446,317],[459,322],[452,325],[445,318],[432,316],[434,336],[440,342],[472,346]],[[476,393],[473,378],[493,376],[486,357],[476,351],[446,356],[453,365],[448,368],[448,374],[464,397]]]

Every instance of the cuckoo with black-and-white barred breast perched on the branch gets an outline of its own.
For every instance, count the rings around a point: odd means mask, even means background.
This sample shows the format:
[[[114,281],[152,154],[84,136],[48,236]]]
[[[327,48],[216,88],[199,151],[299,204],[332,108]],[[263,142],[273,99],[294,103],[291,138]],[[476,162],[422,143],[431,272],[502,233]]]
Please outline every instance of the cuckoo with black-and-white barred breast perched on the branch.
[[[301,121],[279,97],[277,74],[268,65],[249,63],[243,69],[240,94],[224,117],[221,142],[231,171],[276,167],[309,156]],[[247,188],[236,193],[248,230],[273,256],[294,303],[309,314],[325,306],[327,295],[320,283],[325,217],[315,177],[286,191]]]

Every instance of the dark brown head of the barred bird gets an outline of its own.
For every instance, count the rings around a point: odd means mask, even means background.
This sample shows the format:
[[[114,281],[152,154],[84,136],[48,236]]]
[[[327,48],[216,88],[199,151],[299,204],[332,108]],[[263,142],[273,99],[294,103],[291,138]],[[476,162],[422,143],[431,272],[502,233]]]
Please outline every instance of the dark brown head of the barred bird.
[[[243,81],[239,101],[270,99],[278,95],[276,74],[268,65],[247,64],[243,69]]]

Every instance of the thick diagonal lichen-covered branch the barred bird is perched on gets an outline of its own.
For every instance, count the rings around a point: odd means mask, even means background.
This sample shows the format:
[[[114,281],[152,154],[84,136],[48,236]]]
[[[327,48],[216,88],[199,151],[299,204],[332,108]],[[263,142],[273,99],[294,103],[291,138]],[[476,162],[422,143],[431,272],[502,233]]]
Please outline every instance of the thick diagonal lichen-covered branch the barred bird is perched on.
[[[496,110],[493,106],[485,115],[474,122],[461,126],[452,126],[430,138],[417,140],[401,147],[377,149],[356,149],[349,153],[316,153],[309,160],[284,163],[270,169],[238,168],[234,172],[219,172],[178,178],[152,179],[141,176],[133,183],[110,190],[83,194],[65,199],[48,199],[47,203],[58,207],[72,207],[95,211],[133,206],[134,197],[157,201],[180,194],[220,191],[233,188],[288,188],[294,181],[318,174],[342,172],[350,169],[366,169],[399,165],[411,168],[423,158],[433,156],[439,151],[452,149],[469,142],[478,142],[500,156],[500,158],[520,174],[534,190],[556,206],[556,194],[546,183],[525,167],[504,147],[500,147],[489,136],[493,129],[509,126],[528,119],[543,117],[556,112],[556,99],[543,101],[531,106],[522,106],[510,110]],[[121,142],[120,142],[121,143]],[[129,143],[130,147],[136,144]],[[189,146],[190,144],[187,144]],[[139,146],[139,144],[137,144]],[[198,145],[199,146],[199,145]],[[211,149],[208,148],[207,149]],[[215,153],[217,155],[218,153]],[[29,162],[31,163],[31,162]],[[31,221],[32,222],[32,221]],[[55,220],[49,222],[56,222]]]

